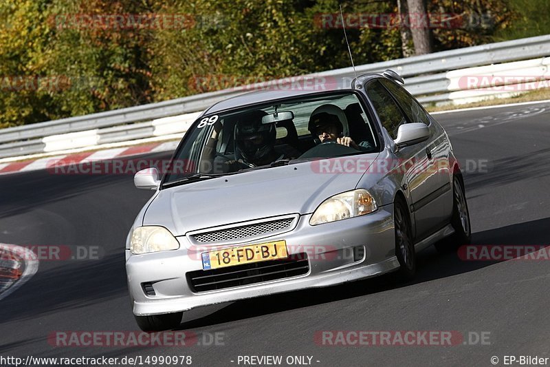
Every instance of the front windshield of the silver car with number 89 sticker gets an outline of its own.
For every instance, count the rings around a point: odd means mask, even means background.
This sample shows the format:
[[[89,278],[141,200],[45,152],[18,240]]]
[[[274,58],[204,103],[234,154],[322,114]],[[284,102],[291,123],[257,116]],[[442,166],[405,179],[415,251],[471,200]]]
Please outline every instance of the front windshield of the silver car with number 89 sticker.
[[[206,114],[186,133],[163,184],[379,149],[355,92]]]

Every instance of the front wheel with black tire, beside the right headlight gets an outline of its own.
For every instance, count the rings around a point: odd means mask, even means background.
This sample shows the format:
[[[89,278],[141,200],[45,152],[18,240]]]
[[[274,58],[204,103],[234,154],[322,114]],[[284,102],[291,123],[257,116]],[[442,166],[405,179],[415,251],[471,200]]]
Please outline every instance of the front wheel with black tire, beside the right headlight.
[[[399,275],[403,280],[412,280],[417,271],[415,244],[412,240],[410,216],[403,200],[397,198],[393,207],[395,227],[395,255],[399,261]]]

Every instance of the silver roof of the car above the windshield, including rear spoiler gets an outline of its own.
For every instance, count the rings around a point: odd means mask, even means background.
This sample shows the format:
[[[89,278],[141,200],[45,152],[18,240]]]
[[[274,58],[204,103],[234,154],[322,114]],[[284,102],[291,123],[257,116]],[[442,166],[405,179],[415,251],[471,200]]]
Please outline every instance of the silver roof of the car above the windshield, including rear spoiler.
[[[386,73],[367,73],[361,74],[357,78],[353,79],[352,83],[359,82],[364,84],[366,81],[369,81],[372,78],[388,78],[391,79]],[[274,101],[278,99],[307,96],[307,95],[316,95],[316,94],[326,94],[331,92],[353,92],[355,88],[351,88],[352,83],[350,83],[349,88],[337,89],[337,88],[327,88],[326,90],[314,90],[314,88],[304,87],[304,85],[298,83],[296,89],[292,88],[292,85],[288,89],[276,89],[275,87],[267,88],[265,90],[254,90],[253,92],[247,92],[227,98],[223,101],[219,101],[206,109],[203,114],[213,114],[227,109],[234,109],[239,107],[245,107],[248,105],[256,105],[259,103],[264,103],[268,101]]]

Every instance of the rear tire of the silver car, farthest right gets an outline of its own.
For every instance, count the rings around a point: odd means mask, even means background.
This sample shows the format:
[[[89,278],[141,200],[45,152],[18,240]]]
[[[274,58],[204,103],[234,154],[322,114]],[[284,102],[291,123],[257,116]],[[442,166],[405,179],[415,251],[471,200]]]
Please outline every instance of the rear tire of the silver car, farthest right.
[[[466,202],[464,185],[458,175],[454,175],[452,179],[452,217],[450,224],[454,229],[454,233],[435,244],[435,249],[440,253],[455,251],[462,244],[472,242],[470,211]]]

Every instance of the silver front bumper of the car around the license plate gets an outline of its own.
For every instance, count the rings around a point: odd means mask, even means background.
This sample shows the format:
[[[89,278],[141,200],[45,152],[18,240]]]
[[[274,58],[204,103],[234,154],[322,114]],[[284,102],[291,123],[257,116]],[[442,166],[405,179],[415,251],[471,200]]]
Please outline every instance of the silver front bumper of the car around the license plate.
[[[202,269],[201,253],[185,236],[178,237],[180,248],[144,255],[126,250],[126,274],[135,315],[158,315],[187,311],[198,306],[244,300],[274,293],[331,286],[387,273],[399,267],[395,257],[393,205],[375,213],[338,222],[309,225],[311,215],[300,216],[297,227],[288,233],[240,242],[233,246],[285,240],[290,254],[307,253],[309,272],[305,275],[247,284],[228,289],[194,293],[186,273]],[[353,247],[364,246],[364,257],[353,259]],[[232,247],[232,246],[227,246]],[[151,283],[155,295],[144,292]]]

